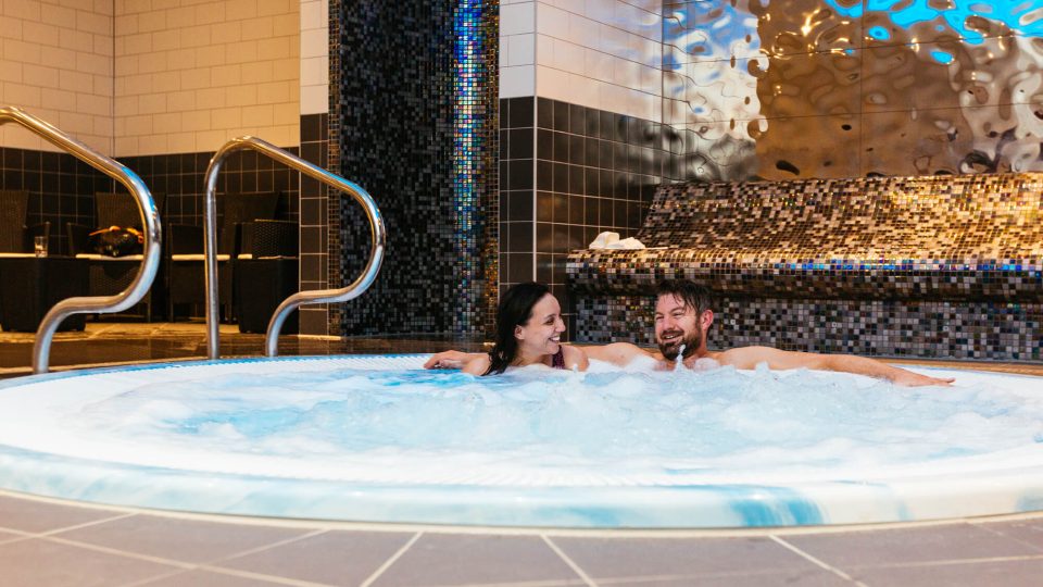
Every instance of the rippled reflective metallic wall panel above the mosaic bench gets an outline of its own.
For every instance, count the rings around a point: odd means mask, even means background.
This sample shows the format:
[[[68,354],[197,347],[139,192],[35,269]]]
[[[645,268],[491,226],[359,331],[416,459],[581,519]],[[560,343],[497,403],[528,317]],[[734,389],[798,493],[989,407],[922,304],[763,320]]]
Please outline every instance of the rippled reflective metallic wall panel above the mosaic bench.
[[[667,0],[682,177],[1043,171],[1038,1]]]

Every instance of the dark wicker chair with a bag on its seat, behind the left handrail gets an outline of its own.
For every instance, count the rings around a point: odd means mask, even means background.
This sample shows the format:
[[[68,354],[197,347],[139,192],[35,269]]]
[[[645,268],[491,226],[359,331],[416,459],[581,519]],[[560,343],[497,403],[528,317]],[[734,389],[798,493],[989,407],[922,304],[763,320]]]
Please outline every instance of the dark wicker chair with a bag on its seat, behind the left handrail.
[[[160,217],[162,217],[164,213],[163,204],[166,202],[166,198],[162,193],[153,193],[152,200],[155,202]],[[120,226],[123,228],[142,229],[138,205],[129,193],[95,193],[95,210],[97,213],[97,225],[100,228]],[[96,228],[81,224],[66,224],[65,230],[68,236],[70,253],[90,264],[88,270],[90,295],[112,296],[123,291],[134,282],[135,276],[138,274],[142,255],[127,254],[123,257],[109,257],[98,254],[90,249],[90,233],[95,229]],[[160,276],[162,274],[163,265],[161,261],[160,270],[156,273],[156,282],[161,279]],[[142,315],[146,321],[152,321],[152,313],[156,303],[159,303],[160,308],[163,307],[162,298],[163,288],[156,288],[155,283],[153,283],[153,287],[149,289],[149,292],[146,294],[141,300],[141,305],[143,305]]]

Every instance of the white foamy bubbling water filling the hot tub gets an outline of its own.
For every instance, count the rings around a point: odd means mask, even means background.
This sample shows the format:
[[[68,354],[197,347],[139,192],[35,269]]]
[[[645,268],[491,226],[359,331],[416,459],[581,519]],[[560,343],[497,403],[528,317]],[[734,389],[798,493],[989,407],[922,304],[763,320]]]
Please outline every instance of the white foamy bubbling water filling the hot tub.
[[[472,377],[423,360],[45,379],[0,390],[0,444],[188,471],[488,486],[879,483],[1043,464],[1038,378],[950,372],[953,387],[904,388],[598,362]]]

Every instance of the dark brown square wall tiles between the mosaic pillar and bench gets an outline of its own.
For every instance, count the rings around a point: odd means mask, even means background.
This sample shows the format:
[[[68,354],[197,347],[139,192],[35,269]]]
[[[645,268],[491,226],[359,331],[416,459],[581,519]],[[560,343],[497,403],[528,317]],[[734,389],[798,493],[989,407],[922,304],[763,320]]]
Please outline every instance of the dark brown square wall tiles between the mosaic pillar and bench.
[[[501,288],[536,279],[573,332],[565,258],[603,230],[633,236],[671,177],[658,123],[546,98],[500,101]]]

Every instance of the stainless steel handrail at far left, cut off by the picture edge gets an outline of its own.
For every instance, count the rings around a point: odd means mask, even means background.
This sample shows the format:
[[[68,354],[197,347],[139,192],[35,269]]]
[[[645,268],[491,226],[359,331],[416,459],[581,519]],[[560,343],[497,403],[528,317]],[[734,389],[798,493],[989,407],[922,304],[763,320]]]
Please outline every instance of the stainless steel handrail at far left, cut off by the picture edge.
[[[144,254],[141,259],[141,268],[126,289],[115,296],[68,298],[54,304],[43,316],[40,327],[36,330],[36,340],[33,342],[33,372],[47,373],[51,341],[54,338],[54,332],[58,330],[58,325],[63,320],[73,314],[122,312],[138,303],[144,297],[144,294],[152,287],[155,272],[160,267],[162,229],[152,193],[136,173],[20,108],[0,108],[0,125],[9,122],[28,128],[39,137],[61,147],[65,152],[126,186],[138,204],[141,212],[141,226],[144,227]]]

